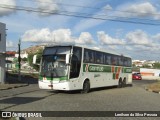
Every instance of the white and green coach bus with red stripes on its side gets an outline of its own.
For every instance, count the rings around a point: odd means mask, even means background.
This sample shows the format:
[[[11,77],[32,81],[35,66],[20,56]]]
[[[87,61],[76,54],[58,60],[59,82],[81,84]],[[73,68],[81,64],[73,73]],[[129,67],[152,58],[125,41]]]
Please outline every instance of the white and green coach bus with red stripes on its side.
[[[131,58],[75,45],[46,46],[43,50],[39,88],[81,90],[132,85]]]

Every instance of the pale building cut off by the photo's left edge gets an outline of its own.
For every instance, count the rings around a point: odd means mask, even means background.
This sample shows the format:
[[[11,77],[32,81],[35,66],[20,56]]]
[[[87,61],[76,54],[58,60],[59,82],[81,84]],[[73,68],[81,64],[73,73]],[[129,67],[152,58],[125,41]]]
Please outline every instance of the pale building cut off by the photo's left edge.
[[[6,24],[0,23],[0,83],[5,82]]]

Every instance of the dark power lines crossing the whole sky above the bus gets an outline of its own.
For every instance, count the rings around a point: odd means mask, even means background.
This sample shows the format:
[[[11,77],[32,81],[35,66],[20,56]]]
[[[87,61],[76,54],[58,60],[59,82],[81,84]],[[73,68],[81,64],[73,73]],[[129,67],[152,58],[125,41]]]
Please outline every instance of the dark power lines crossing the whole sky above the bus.
[[[48,11],[41,11],[38,10],[37,8],[32,8],[32,7],[22,7],[22,6],[11,6],[11,5],[0,5],[1,8],[6,8],[6,9],[14,9],[14,10],[21,10],[21,11],[27,11],[27,12],[38,12],[38,13],[47,13],[47,14],[56,14],[56,15],[63,15],[63,16],[72,16],[72,17],[80,17],[80,18],[89,18],[89,19],[96,19],[96,20],[108,20],[108,21],[114,21],[114,22],[125,22],[125,23],[133,23],[133,24],[144,24],[144,25],[154,25],[154,26],[159,26],[160,23],[149,23],[149,22],[138,22],[138,21],[128,21],[128,20],[118,20],[117,19],[111,19],[111,18],[101,18],[101,17],[95,17],[95,16],[85,16],[85,15],[77,15],[73,14],[71,12],[67,11],[59,11],[59,12],[48,12]],[[64,13],[63,13],[64,12]],[[75,12],[76,13],[76,12]],[[106,16],[107,17],[107,16]]]

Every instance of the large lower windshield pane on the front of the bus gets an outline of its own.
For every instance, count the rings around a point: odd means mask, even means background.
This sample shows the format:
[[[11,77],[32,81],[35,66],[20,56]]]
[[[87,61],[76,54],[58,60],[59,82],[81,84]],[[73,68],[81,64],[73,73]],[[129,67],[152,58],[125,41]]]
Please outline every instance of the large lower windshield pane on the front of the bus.
[[[46,77],[63,77],[67,75],[66,55],[44,55],[40,74]]]

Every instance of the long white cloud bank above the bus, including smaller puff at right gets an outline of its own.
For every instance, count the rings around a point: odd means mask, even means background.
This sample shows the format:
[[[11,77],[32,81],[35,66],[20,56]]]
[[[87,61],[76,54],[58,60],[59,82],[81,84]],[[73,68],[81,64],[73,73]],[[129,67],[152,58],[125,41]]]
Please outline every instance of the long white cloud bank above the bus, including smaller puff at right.
[[[26,31],[21,37],[25,42],[53,43],[53,44],[94,44],[92,36],[83,32],[78,38],[71,34],[70,29],[57,29],[51,31],[48,28]]]

